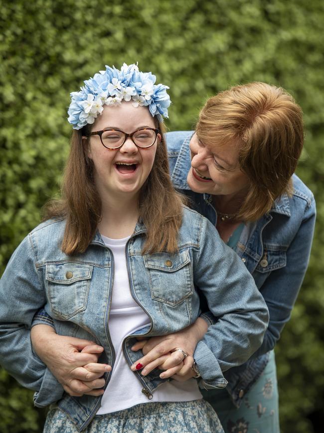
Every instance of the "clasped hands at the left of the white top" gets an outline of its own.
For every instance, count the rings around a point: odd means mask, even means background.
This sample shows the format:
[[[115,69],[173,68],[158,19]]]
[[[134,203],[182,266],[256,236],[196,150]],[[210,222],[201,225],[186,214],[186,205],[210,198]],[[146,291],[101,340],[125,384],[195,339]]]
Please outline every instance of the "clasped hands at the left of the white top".
[[[33,349],[70,396],[100,396],[104,373],[111,366],[98,363],[103,347],[89,340],[57,335],[48,325],[35,325],[30,332]]]

